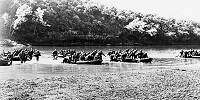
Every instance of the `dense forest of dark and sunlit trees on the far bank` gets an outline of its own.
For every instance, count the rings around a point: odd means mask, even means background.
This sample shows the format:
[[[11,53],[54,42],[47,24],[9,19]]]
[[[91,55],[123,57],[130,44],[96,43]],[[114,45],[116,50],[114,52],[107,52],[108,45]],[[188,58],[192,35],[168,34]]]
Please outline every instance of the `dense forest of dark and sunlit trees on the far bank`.
[[[8,0],[5,6],[0,34],[24,44],[200,44],[197,22],[119,10],[90,0]]]

